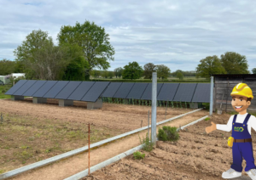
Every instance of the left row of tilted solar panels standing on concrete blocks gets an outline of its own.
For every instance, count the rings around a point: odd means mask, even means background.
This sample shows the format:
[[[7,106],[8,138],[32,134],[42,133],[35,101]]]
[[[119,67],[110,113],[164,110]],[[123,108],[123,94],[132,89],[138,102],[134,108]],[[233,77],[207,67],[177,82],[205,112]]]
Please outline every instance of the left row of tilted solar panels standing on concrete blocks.
[[[5,94],[96,102],[109,82],[20,80]]]

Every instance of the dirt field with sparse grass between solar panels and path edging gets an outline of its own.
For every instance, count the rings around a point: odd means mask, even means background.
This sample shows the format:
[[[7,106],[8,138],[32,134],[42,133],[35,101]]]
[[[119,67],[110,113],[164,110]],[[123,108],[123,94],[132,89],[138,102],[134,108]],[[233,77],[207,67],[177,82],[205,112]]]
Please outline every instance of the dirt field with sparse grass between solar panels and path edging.
[[[32,98],[0,100],[0,173],[87,145],[87,123],[90,143],[148,125],[148,106],[103,104],[101,110],[87,110],[83,102],[75,102],[74,107],[57,103],[55,99],[48,99],[48,104],[32,104]],[[171,118],[190,110],[168,108],[166,113],[159,107],[157,121],[165,120],[165,113]]]

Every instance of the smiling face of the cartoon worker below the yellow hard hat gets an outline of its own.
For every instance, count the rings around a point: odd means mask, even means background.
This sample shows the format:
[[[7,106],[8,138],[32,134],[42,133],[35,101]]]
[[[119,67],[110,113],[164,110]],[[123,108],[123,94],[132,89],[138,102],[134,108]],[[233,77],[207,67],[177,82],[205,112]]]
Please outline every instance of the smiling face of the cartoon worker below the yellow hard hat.
[[[248,106],[251,104],[250,101],[247,101],[247,97],[241,95],[232,95],[232,107],[236,112],[241,112],[242,110],[246,110]]]

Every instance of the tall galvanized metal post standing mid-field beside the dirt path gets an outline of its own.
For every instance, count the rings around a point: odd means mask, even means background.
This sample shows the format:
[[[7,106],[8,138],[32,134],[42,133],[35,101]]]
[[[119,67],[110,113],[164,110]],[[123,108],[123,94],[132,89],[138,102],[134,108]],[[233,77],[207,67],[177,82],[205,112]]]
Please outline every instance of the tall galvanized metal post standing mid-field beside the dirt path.
[[[156,145],[156,93],[157,92],[157,73],[152,73],[152,114],[151,114],[151,141]]]

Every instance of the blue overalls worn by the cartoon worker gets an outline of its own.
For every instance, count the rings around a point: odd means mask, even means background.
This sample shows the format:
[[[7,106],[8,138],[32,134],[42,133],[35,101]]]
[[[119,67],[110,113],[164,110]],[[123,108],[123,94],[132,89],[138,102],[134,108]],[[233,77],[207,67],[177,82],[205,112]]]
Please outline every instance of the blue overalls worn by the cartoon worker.
[[[234,115],[233,123],[232,123],[232,137],[235,139],[244,139],[244,138],[252,138],[251,134],[247,129],[247,121],[250,118],[250,114],[247,114],[243,123],[236,123],[236,116]],[[252,142],[246,143],[233,143],[232,147],[233,152],[233,164],[231,168],[236,170],[236,172],[242,171],[242,157],[247,162],[247,166],[245,171],[249,171],[250,169],[255,169],[254,158],[253,158],[253,144]]]

